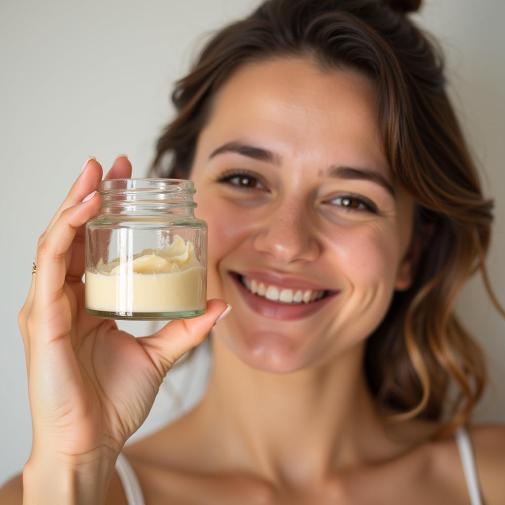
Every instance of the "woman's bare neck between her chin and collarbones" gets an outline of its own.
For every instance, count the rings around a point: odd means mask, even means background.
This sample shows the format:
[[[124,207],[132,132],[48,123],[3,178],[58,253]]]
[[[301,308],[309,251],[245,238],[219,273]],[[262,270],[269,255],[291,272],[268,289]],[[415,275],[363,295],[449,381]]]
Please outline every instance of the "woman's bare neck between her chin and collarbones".
[[[339,468],[392,456],[363,373],[363,347],[317,369],[251,368],[213,337],[214,364],[193,412],[221,471],[280,485],[312,486]]]

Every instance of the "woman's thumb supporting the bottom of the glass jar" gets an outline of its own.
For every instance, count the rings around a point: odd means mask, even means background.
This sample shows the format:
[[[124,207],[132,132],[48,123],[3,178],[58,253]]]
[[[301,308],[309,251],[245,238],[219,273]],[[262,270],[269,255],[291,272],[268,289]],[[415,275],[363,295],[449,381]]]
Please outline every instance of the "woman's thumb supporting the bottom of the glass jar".
[[[137,338],[137,342],[163,378],[183,354],[207,338],[218,319],[221,321],[221,316],[227,316],[230,310],[231,305],[223,300],[208,300],[205,314],[193,319],[170,321],[156,333]]]

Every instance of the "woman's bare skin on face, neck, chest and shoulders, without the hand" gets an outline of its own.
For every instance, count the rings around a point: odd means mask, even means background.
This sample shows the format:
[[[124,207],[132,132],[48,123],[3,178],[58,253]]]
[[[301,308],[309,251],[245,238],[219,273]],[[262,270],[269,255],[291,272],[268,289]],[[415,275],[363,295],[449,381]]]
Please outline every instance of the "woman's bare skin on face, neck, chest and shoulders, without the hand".
[[[394,290],[409,287],[421,254],[413,201],[390,180],[374,100],[360,74],[301,59],[245,65],[219,90],[191,179],[197,217],[209,223],[209,296],[233,311],[212,330],[204,399],[123,450],[146,503],[469,502],[453,439],[428,441],[436,430],[428,422],[385,423],[363,374],[366,338]],[[268,149],[275,160],[212,156],[229,142]],[[327,174],[343,165],[377,171],[394,197],[372,180]],[[247,174],[222,180],[236,169]],[[377,212],[348,209],[349,194]],[[248,269],[338,295],[296,321],[267,317],[230,275]],[[502,503],[505,429],[471,434],[485,502]],[[12,503],[20,485],[4,488]],[[106,503],[126,503],[116,474]]]

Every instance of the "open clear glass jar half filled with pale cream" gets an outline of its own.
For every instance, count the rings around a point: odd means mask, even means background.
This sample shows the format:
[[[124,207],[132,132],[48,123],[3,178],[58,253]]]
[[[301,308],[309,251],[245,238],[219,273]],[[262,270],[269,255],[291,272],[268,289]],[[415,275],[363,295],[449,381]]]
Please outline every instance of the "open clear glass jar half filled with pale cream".
[[[86,223],[85,308],[105,319],[204,314],[207,223],[194,217],[192,181],[110,179]]]

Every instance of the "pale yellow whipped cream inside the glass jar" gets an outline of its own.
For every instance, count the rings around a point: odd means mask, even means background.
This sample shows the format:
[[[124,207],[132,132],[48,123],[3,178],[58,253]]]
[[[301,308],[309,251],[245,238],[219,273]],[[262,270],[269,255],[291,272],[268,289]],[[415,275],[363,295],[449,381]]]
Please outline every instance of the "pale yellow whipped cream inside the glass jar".
[[[206,268],[180,235],[163,250],[144,249],[133,259],[85,272],[86,308],[104,312],[185,312],[206,307]]]

